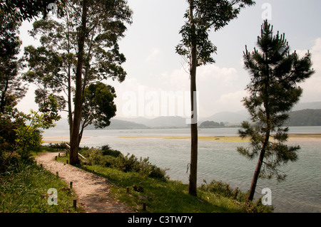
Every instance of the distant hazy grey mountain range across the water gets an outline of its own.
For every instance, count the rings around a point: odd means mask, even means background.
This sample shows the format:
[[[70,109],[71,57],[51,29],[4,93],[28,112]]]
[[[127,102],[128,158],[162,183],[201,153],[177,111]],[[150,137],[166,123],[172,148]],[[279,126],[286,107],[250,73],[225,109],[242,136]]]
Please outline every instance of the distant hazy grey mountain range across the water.
[[[320,110],[321,102],[302,102],[293,107],[292,111],[298,110]],[[240,110],[238,112],[218,112],[210,117],[202,117],[199,123],[205,121],[223,122],[225,126],[240,125],[240,122],[249,120],[247,110]],[[307,117],[307,116],[306,116]],[[307,121],[307,120],[306,120]],[[145,117],[136,118],[121,118],[115,117],[111,119],[111,125],[106,127],[108,130],[125,130],[125,129],[145,129],[145,128],[184,128],[186,125],[186,118],[184,117],[156,117],[148,119]],[[68,130],[68,121],[62,119],[56,124],[56,129]],[[94,130],[93,126],[86,127],[86,130]]]

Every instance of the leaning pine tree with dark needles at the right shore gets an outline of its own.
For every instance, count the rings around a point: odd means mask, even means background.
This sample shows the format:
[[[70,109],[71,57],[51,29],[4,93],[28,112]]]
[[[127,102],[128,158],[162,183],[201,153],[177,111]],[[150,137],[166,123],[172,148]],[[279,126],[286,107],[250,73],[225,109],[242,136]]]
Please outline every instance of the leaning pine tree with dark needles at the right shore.
[[[251,115],[252,123],[243,122],[240,137],[250,137],[251,147],[238,147],[238,152],[249,159],[258,157],[248,200],[252,201],[259,177],[284,180],[278,167],[288,161],[297,160],[299,146],[287,146],[287,127],[282,127],[292,106],[300,99],[302,88],[297,83],[309,78],[311,54],[307,52],[299,58],[297,53],[290,54],[290,46],[285,35],[273,35],[272,26],[264,21],[258,49],[252,53],[244,52],[245,68],[250,73],[248,85],[250,97],[243,102]],[[270,141],[272,140],[272,141]]]

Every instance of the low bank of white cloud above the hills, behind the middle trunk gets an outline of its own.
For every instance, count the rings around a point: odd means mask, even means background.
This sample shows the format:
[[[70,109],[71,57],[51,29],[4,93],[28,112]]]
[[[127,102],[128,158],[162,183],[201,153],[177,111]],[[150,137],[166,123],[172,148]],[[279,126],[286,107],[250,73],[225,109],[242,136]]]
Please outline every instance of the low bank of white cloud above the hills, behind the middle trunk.
[[[130,95],[135,95],[137,100],[136,112],[138,114],[138,99],[145,99],[144,105],[148,105],[148,95],[153,93],[160,98],[160,115],[163,106],[161,105],[161,94],[183,94],[185,117],[190,115],[186,111],[190,109],[190,79],[188,68],[180,68],[170,73],[156,75],[153,83],[146,84],[136,79],[126,79],[123,83],[115,83],[118,105],[118,117],[123,115],[123,107],[128,107]],[[142,88],[143,87],[143,88]],[[220,111],[238,111],[242,109],[240,100],[245,96],[243,92],[245,84],[240,83],[238,72],[235,68],[220,68],[217,65],[205,65],[198,68],[197,90],[199,92],[200,117],[207,117]],[[140,91],[146,97],[140,96]],[[237,90],[237,92],[235,92]],[[129,95],[129,96],[128,96]],[[125,100],[123,99],[125,97]],[[175,97],[175,105],[178,106],[178,97]],[[187,100],[187,102],[186,102]],[[151,104],[151,102],[149,102]],[[176,112],[177,114],[178,112]],[[147,116],[148,117],[148,116]]]

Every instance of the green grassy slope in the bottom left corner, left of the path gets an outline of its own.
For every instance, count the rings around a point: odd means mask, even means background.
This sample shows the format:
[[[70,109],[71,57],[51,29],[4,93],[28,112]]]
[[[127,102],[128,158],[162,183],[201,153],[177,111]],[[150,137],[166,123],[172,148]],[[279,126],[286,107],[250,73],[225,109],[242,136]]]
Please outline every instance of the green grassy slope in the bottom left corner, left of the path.
[[[49,189],[57,190],[57,205],[54,204],[54,196],[47,194]],[[75,198],[76,194],[63,180],[37,166],[32,159],[16,158],[0,174],[0,213],[82,212],[73,208]]]

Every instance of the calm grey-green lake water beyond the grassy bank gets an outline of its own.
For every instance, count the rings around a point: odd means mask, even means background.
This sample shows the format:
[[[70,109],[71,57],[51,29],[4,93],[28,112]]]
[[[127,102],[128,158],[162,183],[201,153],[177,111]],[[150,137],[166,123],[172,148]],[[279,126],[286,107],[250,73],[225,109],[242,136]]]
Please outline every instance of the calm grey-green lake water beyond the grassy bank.
[[[237,128],[202,129],[199,136],[235,135]],[[290,133],[321,133],[321,127],[290,127]],[[68,136],[68,131],[49,130],[45,137]],[[99,147],[109,144],[123,154],[149,157],[152,164],[169,168],[170,179],[188,183],[187,167],[190,162],[189,139],[129,139],[120,137],[175,137],[190,136],[189,129],[177,130],[88,130],[84,132],[81,146]],[[282,167],[287,180],[259,180],[256,196],[264,188],[272,190],[275,212],[321,212],[321,140],[288,142],[300,145],[299,159]],[[224,181],[243,191],[250,188],[257,159],[249,161],[236,152],[236,147],[246,147],[246,142],[198,142],[198,184]]]

